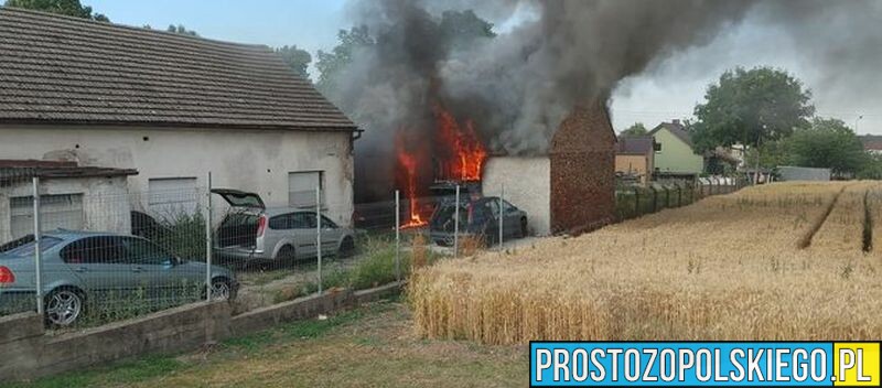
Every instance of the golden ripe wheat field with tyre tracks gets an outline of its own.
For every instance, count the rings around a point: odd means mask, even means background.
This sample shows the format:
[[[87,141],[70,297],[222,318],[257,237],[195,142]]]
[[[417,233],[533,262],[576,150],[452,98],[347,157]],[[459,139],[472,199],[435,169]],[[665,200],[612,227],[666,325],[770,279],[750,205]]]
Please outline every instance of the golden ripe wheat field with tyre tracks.
[[[408,299],[421,335],[487,344],[878,340],[880,225],[880,183],[775,183],[442,261],[412,274]]]

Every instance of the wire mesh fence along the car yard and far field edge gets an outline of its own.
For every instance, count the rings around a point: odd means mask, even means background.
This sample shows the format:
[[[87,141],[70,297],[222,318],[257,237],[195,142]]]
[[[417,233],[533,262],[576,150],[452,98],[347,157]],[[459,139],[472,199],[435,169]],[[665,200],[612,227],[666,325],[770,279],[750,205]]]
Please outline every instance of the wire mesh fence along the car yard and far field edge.
[[[527,213],[505,187],[485,196],[474,184],[444,183],[431,196],[396,192],[353,206],[326,198],[319,184],[277,206],[214,186],[211,174],[196,182],[151,181],[139,192],[125,176],[0,170],[0,314],[36,311],[65,328],[206,300],[227,300],[241,313],[407,279],[413,268],[530,234]],[[616,215],[682,206],[740,185],[718,179],[622,187]]]

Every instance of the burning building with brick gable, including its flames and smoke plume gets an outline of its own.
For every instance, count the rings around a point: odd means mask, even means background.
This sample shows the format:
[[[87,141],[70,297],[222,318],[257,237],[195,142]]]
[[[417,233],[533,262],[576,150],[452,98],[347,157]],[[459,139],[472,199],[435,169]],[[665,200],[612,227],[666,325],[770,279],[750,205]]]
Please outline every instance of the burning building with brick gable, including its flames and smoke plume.
[[[448,7],[384,0],[354,8],[363,28],[347,36],[359,43],[329,97],[366,129],[355,144],[356,201],[388,201],[399,190],[406,224],[418,226],[431,214],[421,198],[438,181],[482,182],[486,195],[504,185],[533,231],[546,235],[612,217],[615,137],[606,105],[620,80],[704,42],[750,2]],[[495,31],[478,13],[516,23]]]

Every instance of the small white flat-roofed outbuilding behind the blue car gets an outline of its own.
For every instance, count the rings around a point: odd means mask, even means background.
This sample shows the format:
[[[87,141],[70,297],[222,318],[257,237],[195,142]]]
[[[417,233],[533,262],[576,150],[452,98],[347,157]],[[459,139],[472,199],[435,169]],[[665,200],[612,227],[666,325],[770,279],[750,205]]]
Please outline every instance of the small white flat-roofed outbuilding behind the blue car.
[[[43,230],[131,230],[127,201],[135,170],[78,166],[73,162],[0,160],[0,241],[34,231],[33,183],[40,177],[40,222]]]

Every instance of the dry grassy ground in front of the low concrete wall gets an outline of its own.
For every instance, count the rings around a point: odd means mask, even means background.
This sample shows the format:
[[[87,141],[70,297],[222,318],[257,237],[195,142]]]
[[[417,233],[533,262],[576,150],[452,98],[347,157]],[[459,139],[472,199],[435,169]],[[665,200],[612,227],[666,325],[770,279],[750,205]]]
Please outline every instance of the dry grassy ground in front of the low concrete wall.
[[[525,346],[419,338],[406,305],[380,302],[204,352],[8,387],[516,387],[528,363]]]

